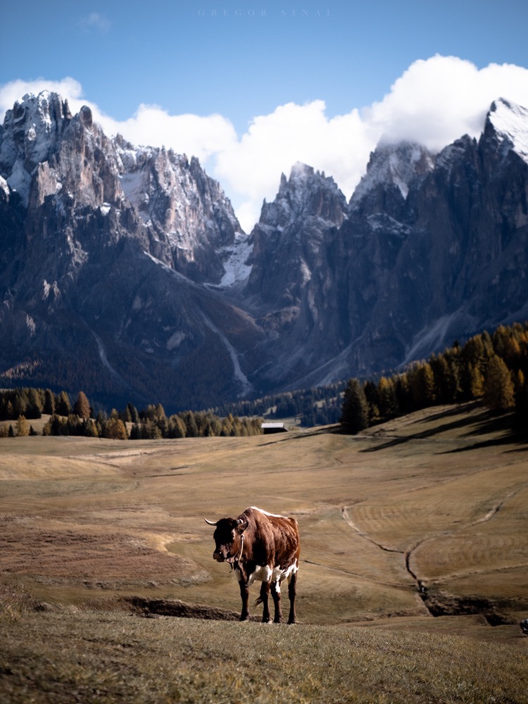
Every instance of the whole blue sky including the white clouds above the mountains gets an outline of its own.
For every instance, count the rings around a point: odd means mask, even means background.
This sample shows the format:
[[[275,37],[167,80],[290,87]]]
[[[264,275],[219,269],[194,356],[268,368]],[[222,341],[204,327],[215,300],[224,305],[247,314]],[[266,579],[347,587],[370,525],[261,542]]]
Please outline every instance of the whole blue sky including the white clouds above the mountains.
[[[422,137],[445,111],[451,132],[422,139],[439,149],[497,91],[527,103],[526,27],[525,0],[19,0],[1,12],[0,108],[58,88],[107,132],[196,153],[248,229],[294,161],[350,196],[383,135]]]

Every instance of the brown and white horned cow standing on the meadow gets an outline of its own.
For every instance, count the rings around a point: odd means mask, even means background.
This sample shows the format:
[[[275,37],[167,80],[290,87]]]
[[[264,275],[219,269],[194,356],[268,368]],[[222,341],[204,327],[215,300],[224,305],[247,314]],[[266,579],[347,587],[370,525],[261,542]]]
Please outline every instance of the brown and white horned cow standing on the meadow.
[[[238,518],[220,518],[206,523],[215,526],[213,558],[227,562],[237,575],[242,598],[241,621],[249,620],[249,587],[262,582],[255,605],[263,604],[262,622],[271,620],[268,596],[275,605],[275,623],[282,622],[280,587],[288,582],[289,618],[296,623],[295,598],[299,553],[298,524],[294,518],[268,513],[256,506],[246,508]]]

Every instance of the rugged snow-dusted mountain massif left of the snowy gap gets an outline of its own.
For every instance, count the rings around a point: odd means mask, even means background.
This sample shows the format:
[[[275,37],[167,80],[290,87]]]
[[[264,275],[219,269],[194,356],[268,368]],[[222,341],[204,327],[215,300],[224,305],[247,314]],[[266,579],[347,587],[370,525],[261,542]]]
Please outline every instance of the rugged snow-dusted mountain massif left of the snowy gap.
[[[208,406],[251,389],[263,334],[214,290],[240,228],[193,159],[26,96],[0,132],[4,384]]]

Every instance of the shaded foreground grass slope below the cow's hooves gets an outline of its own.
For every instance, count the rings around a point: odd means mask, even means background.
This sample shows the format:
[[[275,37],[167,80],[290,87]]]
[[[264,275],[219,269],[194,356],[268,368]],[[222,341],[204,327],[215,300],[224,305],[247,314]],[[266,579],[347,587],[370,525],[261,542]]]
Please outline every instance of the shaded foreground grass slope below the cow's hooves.
[[[457,636],[85,611],[0,635],[8,703],[528,701],[525,651]]]

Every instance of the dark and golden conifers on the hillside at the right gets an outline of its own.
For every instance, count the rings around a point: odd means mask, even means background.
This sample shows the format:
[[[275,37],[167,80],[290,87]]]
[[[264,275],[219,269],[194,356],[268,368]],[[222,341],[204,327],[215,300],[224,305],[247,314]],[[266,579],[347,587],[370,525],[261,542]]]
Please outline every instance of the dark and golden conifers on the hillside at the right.
[[[528,323],[501,325],[474,335],[427,361],[377,382],[350,379],[341,425],[355,434],[370,425],[441,403],[482,401],[491,411],[513,411],[517,429],[527,430]]]

